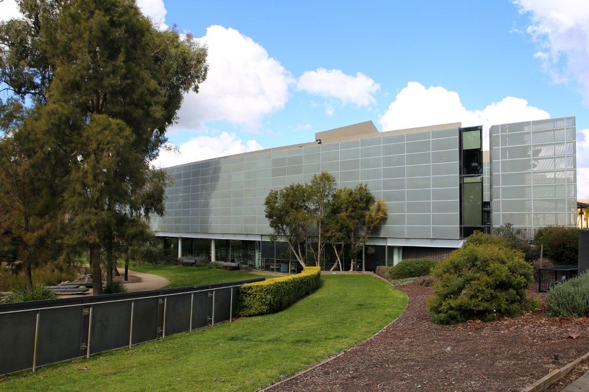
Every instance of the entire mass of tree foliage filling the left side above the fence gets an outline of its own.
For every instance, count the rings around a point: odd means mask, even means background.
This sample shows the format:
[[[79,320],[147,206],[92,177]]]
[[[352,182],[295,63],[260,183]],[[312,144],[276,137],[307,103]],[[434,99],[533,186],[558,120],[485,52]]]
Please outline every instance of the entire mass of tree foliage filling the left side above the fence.
[[[0,102],[0,199],[16,206],[0,206],[12,214],[0,234],[22,244],[27,270],[51,257],[37,244],[59,243],[64,260],[89,250],[94,281],[104,264],[110,282],[118,254],[137,242],[127,230],[163,213],[166,175],[150,162],[184,93],[206,78],[207,49],[176,28],[159,31],[134,1],[17,2],[22,18],[0,24],[10,94]]]

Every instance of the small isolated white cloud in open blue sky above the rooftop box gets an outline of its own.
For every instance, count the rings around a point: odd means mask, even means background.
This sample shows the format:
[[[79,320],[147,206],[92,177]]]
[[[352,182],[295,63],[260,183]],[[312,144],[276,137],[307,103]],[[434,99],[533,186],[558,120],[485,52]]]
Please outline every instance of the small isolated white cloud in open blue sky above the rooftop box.
[[[343,105],[353,103],[367,106],[376,102],[374,93],[380,85],[362,72],[356,76],[346,75],[339,69],[317,68],[305,71],[297,82],[297,90],[306,91],[311,95],[339,100]]]

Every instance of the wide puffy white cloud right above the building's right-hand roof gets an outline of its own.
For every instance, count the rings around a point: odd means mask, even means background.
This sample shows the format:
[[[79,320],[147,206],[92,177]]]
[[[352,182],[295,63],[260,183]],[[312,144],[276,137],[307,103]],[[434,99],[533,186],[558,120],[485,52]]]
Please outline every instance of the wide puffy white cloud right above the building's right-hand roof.
[[[550,118],[550,113],[528,105],[522,98],[507,96],[484,109],[467,110],[455,91],[443,87],[425,88],[421,83],[409,82],[389,105],[379,123],[382,130],[414,128],[418,126],[462,122],[463,126],[483,126],[483,148],[489,148],[488,132],[491,125]]]

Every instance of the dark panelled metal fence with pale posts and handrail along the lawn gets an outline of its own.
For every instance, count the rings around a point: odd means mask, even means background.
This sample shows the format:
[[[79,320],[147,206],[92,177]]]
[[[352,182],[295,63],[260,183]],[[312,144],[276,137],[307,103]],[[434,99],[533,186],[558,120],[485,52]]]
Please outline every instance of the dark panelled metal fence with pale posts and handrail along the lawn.
[[[0,374],[231,321],[239,282],[0,305]]]

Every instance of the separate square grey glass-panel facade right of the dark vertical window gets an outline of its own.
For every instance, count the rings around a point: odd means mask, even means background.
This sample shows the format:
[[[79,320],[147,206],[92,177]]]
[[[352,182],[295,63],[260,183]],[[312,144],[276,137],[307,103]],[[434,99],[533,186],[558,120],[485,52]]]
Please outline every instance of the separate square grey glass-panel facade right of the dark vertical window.
[[[490,138],[492,225],[575,226],[574,117],[494,125]]]

